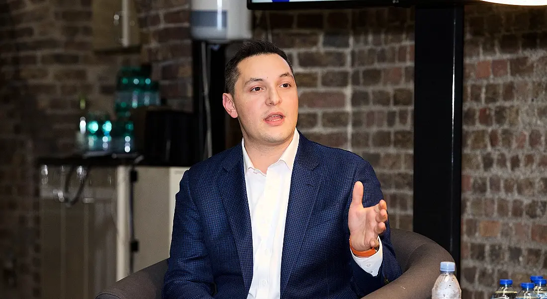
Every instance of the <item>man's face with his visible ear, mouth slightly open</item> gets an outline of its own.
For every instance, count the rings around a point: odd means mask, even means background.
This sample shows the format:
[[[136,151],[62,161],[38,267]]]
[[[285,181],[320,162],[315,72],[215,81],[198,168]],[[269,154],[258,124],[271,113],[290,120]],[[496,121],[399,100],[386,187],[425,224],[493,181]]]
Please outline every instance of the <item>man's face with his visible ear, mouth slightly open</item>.
[[[290,140],[298,119],[298,93],[288,63],[277,54],[245,58],[238,65],[234,96],[223,104],[238,118],[245,140],[278,145]]]

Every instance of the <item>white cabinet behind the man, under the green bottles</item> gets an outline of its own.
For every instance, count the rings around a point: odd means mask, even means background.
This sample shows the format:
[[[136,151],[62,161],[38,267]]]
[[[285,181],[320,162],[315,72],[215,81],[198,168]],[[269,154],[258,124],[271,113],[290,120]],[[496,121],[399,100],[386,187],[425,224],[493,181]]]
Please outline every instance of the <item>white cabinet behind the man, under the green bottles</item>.
[[[85,173],[78,167],[69,180],[68,194],[62,194],[70,168],[41,167],[42,293],[44,298],[92,299],[130,274],[131,167],[91,167],[82,198],[68,207],[63,197],[74,196]],[[175,195],[187,169],[135,168],[133,221],[139,242],[135,272],[169,256]]]

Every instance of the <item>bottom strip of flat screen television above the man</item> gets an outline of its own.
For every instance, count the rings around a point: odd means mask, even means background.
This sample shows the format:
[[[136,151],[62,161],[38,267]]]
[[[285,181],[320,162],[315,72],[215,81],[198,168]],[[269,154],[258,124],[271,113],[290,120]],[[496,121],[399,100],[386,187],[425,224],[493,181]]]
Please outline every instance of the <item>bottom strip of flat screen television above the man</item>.
[[[479,0],[247,0],[252,10],[347,9],[364,7],[411,7],[414,5],[457,5],[479,3]]]

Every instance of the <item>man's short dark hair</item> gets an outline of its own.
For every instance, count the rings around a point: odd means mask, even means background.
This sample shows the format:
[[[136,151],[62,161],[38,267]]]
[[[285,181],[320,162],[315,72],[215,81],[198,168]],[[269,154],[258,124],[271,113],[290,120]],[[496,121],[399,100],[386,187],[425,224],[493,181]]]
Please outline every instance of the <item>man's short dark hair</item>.
[[[226,92],[234,96],[236,81],[240,75],[237,66],[242,60],[248,57],[266,54],[277,54],[281,56],[281,58],[287,61],[290,72],[294,75],[293,66],[290,64],[289,58],[287,57],[287,53],[285,51],[281,50],[274,43],[268,42],[267,40],[253,39],[243,43],[234,57],[232,57],[226,64],[224,77]]]

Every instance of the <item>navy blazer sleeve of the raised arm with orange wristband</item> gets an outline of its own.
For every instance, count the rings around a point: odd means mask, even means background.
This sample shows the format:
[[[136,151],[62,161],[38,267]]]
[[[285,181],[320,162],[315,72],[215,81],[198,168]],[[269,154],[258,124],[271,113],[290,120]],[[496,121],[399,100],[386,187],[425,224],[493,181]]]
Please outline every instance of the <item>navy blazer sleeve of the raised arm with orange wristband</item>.
[[[353,185],[356,183],[356,181],[360,181],[363,183],[363,206],[364,207],[372,207],[375,206],[380,202],[380,200],[383,199],[382,190],[380,189],[380,181],[376,178],[376,173],[374,172],[373,167],[370,165],[369,162],[366,162],[363,159],[359,159],[356,171],[353,176],[353,183],[352,183],[352,190]],[[346,206],[346,215],[348,211],[350,210],[350,204],[351,204],[351,196],[352,192],[350,192],[350,196],[348,198],[348,203]],[[388,207],[389,212],[389,207]],[[347,217],[347,216],[346,216]],[[347,220],[347,218],[346,218]],[[346,221],[347,223],[347,221]],[[370,294],[371,292],[380,289],[383,285],[392,282],[396,278],[398,278],[401,275],[401,269],[399,266],[399,263],[395,259],[395,251],[393,250],[393,245],[391,243],[391,234],[389,230],[389,217],[388,221],[386,222],[386,230],[380,235],[380,240],[382,242],[382,254],[383,254],[383,260],[382,265],[380,266],[378,275],[374,277],[373,275],[367,273],[364,271],[359,265],[354,261],[353,258],[351,258],[352,263],[352,271],[353,271],[353,278],[355,279],[355,282],[357,283],[357,286],[360,291],[363,292],[363,294],[359,294],[362,296],[365,296],[367,294]],[[349,237],[350,237],[350,231],[347,230],[347,240],[348,240],[348,248],[350,246],[349,243]],[[348,250],[348,254],[351,255],[351,251]]]

